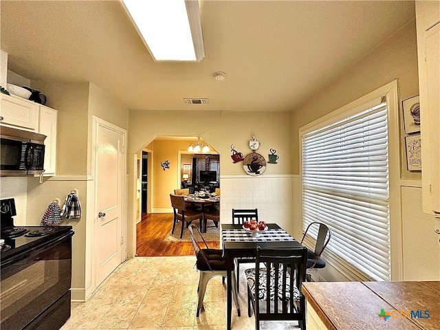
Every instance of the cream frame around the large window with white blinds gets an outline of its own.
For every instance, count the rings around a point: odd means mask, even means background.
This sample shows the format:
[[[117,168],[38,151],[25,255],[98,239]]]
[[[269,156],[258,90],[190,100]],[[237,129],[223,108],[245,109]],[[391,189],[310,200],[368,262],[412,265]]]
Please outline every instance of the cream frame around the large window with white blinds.
[[[328,126],[334,122],[343,120],[362,110],[369,109],[369,104],[377,104],[377,100],[386,96],[386,107],[388,115],[388,171],[389,171],[389,214],[390,214],[390,255],[391,255],[391,281],[402,281],[403,279],[403,248],[401,228],[401,205],[400,205],[400,148],[399,139],[399,100],[397,80],[393,80],[369,94],[340,107],[327,115],[300,127],[299,141],[303,141],[303,135]],[[300,180],[303,186],[303,144],[300,143]],[[301,188],[301,192],[303,188]],[[301,214],[303,210],[303,198],[301,198]],[[303,228],[303,221],[301,220]],[[303,229],[302,229],[303,230]],[[313,246],[314,240],[307,237],[306,245]],[[351,264],[344,261],[331,252],[325,252],[325,260],[338,272],[350,281],[369,281],[368,276],[357,270]]]

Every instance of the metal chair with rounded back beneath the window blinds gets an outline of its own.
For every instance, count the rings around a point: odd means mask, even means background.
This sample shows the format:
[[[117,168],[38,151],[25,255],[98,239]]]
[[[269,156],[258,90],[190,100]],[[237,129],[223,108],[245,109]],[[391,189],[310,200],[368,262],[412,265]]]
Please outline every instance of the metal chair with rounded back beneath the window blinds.
[[[304,232],[303,239],[301,239],[301,244],[307,235],[310,236],[311,232],[316,234],[316,244],[314,250],[308,250],[307,257],[307,282],[316,282],[316,276],[312,273],[313,270],[322,269],[325,267],[325,260],[321,258],[322,252],[324,252],[327,244],[331,238],[331,231],[327,225],[320,222],[312,222],[307,225],[307,228]]]

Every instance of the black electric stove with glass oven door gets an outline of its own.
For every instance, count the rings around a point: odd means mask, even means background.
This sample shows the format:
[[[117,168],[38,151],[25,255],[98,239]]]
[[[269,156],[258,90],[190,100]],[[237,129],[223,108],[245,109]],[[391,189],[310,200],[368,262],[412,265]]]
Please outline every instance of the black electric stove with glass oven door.
[[[70,316],[72,226],[15,226],[14,199],[1,199],[0,213],[0,329],[61,329]]]

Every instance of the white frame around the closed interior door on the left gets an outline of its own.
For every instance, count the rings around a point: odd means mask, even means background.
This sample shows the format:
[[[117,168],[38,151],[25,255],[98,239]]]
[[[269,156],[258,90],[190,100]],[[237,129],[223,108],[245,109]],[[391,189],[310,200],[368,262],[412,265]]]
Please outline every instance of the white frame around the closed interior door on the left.
[[[87,203],[91,206],[91,212],[87,212],[89,215],[89,219],[93,219],[90,221],[91,224],[87,225],[87,228],[91,229],[90,239],[86,239],[87,242],[90,243],[90,265],[91,265],[91,287],[87,288],[87,292],[94,292],[96,289],[96,244],[98,240],[96,239],[96,214],[98,212],[98,196],[96,189],[96,152],[97,152],[97,142],[98,142],[98,128],[104,127],[106,129],[111,129],[122,134],[122,175],[120,178],[120,184],[122,187],[121,192],[121,236],[122,236],[122,244],[121,244],[121,259],[120,263],[124,262],[127,258],[127,245],[126,245],[126,235],[127,235],[127,218],[126,218],[126,199],[127,199],[127,175],[126,175],[126,145],[127,145],[127,133],[126,129],[122,129],[120,126],[116,126],[115,124],[111,124],[111,122],[107,122],[102,118],[97,117],[96,115],[92,116],[92,125],[91,125],[91,177],[92,180],[89,181],[90,194],[87,194]],[[89,209],[89,208],[87,208]],[[87,253],[87,252],[86,252]],[[87,275],[86,275],[87,276]]]

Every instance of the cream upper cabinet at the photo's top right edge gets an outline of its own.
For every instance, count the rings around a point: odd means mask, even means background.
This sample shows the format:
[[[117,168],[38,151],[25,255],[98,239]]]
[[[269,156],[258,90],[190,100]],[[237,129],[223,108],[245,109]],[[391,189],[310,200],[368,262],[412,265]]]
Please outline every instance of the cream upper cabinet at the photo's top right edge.
[[[440,217],[440,1],[415,1],[423,212]]]

